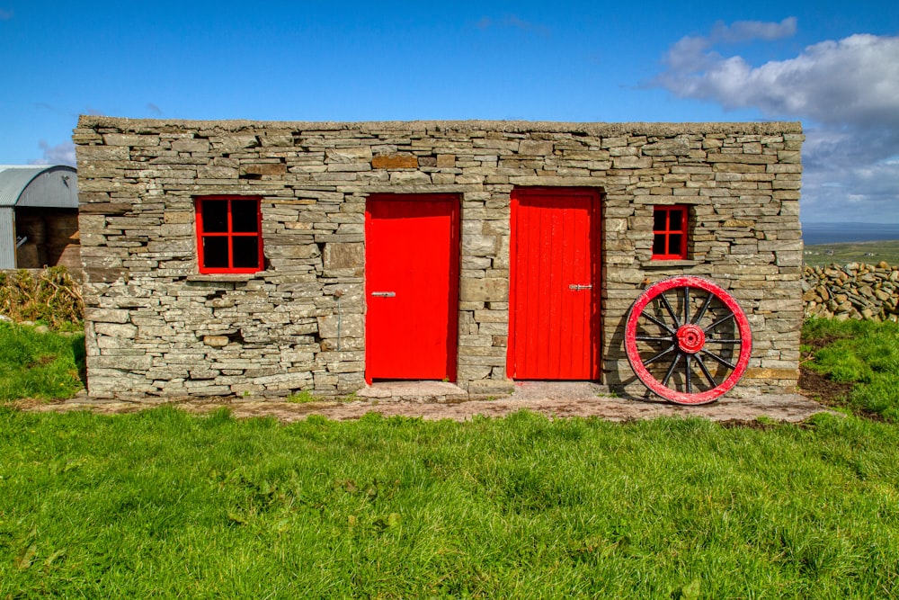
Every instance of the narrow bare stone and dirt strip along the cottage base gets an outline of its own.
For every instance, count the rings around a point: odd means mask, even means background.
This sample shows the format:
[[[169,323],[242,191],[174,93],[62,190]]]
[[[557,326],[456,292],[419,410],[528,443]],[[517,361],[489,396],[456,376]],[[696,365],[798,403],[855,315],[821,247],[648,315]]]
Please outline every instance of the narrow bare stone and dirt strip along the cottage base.
[[[451,384],[443,384],[444,386]],[[420,390],[418,390],[420,391]],[[444,390],[445,391],[445,390]],[[797,423],[825,407],[798,394],[758,395],[746,398],[718,399],[699,407],[681,407],[663,401],[636,398],[599,396],[603,390],[589,383],[523,383],[512,395],[490,400],[455,399],[451,393],[386,393],[380,390],[368,397],[348,402],[322,401],[292,403],[261,399],[183,399],[136,400],[131,402],[75,399],[57,402],[23,401],[19,406],[39,412],[91,410],[101,414],[119,414],[171,403],[191,413],[207,413],[219,407],[229,407],[234,416],[272,416],[290,423],[309,415],[321,415],[336,421],[357,419],[369,412],[383,416],[414,416],[428,420],[452,419],[466,421],[473,416],[503,416],[527,409],[549,417],[598,416],[610,421],[631,421],[657,416],[702,416],[713,421],[747,423],[759,417],[773,421]]]

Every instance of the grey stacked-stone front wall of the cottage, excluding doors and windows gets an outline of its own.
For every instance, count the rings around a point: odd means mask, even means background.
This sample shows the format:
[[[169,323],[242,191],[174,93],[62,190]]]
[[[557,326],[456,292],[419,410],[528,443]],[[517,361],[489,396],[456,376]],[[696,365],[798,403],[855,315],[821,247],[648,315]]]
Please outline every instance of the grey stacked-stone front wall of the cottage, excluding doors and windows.
[[[797,382],[799,123],[157,121],[74,133],[93,397],[338,395],[365,385],[364,212],[372,193],[460,202],[458,385],[509,390],[510,193],[602,203],[602,382],[642,390],[623,345],[645,286],[694,274],[753,331],[737,390]],[[194,200],[262,198],[265,269],[200,274]],[[652,261],[656,205],[690,208],[690,260]]]

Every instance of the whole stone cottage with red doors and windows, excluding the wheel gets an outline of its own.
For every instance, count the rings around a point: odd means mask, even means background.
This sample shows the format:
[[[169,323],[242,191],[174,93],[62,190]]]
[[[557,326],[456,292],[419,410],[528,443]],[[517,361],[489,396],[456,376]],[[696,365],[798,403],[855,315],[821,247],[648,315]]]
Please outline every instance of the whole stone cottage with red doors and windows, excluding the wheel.
[[[641,389],[624,322],[698,275],[797,383],[801,125],[161,121],[75,130],[96,398],[371,381]]]

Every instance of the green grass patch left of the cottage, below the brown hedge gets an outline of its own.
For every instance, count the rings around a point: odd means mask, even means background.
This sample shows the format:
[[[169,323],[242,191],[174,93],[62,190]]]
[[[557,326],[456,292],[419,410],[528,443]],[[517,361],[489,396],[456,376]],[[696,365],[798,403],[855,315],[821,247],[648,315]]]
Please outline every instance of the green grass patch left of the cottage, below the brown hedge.
[[[84,388],[85,335],[0,323],[0,401],[70,398]]]

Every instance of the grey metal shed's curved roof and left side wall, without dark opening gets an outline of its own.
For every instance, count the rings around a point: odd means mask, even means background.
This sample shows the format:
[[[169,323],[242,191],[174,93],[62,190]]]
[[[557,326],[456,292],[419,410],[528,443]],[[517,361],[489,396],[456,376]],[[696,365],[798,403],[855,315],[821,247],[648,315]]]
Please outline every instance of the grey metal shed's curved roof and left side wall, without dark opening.
[[[0,269],[14,269],[15,207],[78,208],[78,175],[65,165],[0,165]]]

